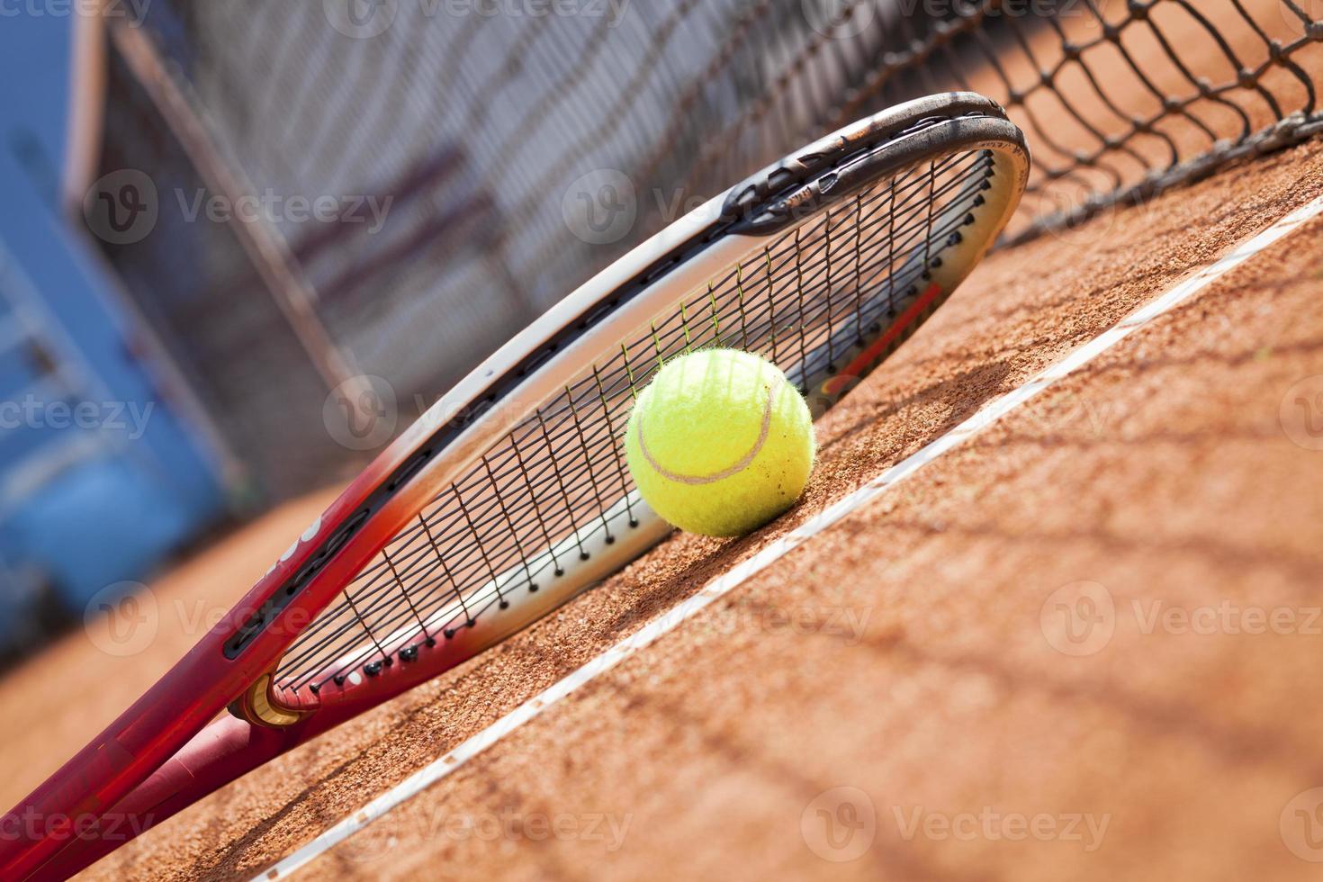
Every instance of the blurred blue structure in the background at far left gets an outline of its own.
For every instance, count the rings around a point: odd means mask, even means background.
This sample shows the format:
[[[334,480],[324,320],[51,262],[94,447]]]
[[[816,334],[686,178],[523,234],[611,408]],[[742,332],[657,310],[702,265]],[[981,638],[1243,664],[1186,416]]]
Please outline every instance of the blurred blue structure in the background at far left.
[[[0,649],[42,594],[81,616],[225,508],[213,451],[61,204],[73,24],[0,26]]]

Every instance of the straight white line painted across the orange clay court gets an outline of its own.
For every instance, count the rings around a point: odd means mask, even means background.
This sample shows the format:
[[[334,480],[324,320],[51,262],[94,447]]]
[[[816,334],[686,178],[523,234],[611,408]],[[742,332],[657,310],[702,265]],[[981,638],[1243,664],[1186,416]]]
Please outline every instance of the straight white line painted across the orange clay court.
[[[996,421],[1002,419],[1002,417],[1005,417],[1008,413],[1041,393],[1044,389],[1048,389],[1064,377],[1070,376],[1139,328],[1144,327],[1158,316],[1170,312],[1180,303],[1188,300],[1199,291],[1203,291],[1221,276],[1281,241],[1302,223],[1318,217],[1319,214],[1323,214],[1323,197],[1319,197],[1308,205],[1291,212],[1269,229],[1236,247],[1234,251],[1222,257],[1212,266],[1208,266],[1196,275],[1187,278],[1184,282],[1171,288],[1162,296],[1131,312],[1118,324],[1102,332],[1099,336],[1094,337],[1082,346],[1073,349],[1061,361],[1056,362],[1050,368],[1046,368],[1023,386],[1019,386],[1000,398],[990,401],[979,409],[978,413],[951,431],[931,442],[918,452],[901,460],[896,465],[892,465],[880,476],[868,484],[864,484],[849,496],[845,496],[844,499],[827,506],[792,532],[763,547],[753,557],[741,561],[726,573],[722,573],[717,578],[712,579],[693,596],[680,602],[669,611],[663,612],[659,618],[646,624],[638,632],[619,641],[601,656],[593,659],[556,685],[548,688],[545,692],[528,700],[483,731],[455,747],[455,750],[450,751],[441,759],[419,768],[404,782],[364,805],[352,816],[327,829],[318,838],[294,852],[261,875],[254,877],[254,882],[259,882],[261,879],[278,879],[290,875],[323,852],[368,826],[390,809],[413,799],[472,758],[482,754],[505,735],[540,715],[544,710],[561,701],[583,684],[595,680],[601,674],[617,666],[631,653],[650,645],[658,637],[675,629],[680,625],[680,623],[692,618],[708,604],[733,591],[750,577],[767,569],[789,554],[792,549],[803,545],[818,533],[822,533],[827,528],[841,521],[845,516],[868,505],[886,488],[904,481],[923,465],[931,463],[934,459],[946,454],[953,447],[972,435],[983,431]]]

